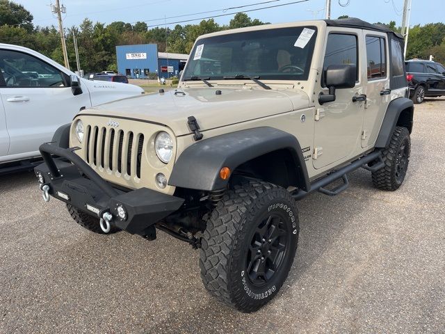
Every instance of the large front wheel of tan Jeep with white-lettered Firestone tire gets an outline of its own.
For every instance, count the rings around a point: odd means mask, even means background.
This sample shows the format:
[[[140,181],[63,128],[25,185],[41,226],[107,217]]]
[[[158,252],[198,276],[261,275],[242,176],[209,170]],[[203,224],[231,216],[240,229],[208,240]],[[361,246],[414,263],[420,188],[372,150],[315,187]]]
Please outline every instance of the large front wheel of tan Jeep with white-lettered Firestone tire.
[[[204,286],[233,308],[258,310],[286,280],[298,232],[296,202],[286,189],[266,182],[234,186],[211,213],[202,237]]]

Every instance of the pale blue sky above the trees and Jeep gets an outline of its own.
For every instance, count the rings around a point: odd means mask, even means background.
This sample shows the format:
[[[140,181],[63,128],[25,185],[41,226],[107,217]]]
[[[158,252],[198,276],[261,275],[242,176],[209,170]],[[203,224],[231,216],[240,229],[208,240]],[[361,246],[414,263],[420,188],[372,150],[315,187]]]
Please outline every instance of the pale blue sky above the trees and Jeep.
[[[57,19],[51,13],[47,0],[13,0],[21,3],[34,17],[33,23],[39,26],[57,25]],[[268,3],[264,3],[268,1]],[[111,23],[123,21],[134,23],[137,21],[149,21],[148,25],[163,24],[164,22],[176,22],[186,19],[197,19],[181,24],[197,24],[201,17],[236,13],[242,10],[276,6],[296,0],[60,0],[67,8],[63,15],[65,27],[78,26],[84,18],[88,17],[92,22]],[[53,1],[55,2],[55,1]],[[225,8],[263,4],[227,10]],[[343,5],[343,6],[341,6]],[[347,6],[346,6],[347,5]],[[250,17],[260,19],[263,22],[283,23],[305,19],[323,19],[325,16],[325,0],[308,0],[294,3],[289,6],[255,10],[247,13]],[[396,21],[400,26],[402,22],[403,0],[332,0],[331,18],[336,19],[340,15],[358,17],[368,22]],[[207,14],[191,15],[186,17],[174,17],[212,11]],[[445,0],[412,0],[410,26],[414,24],[426,24],[431,22],[443,22],[445,14]],[[167,17],[164,19],[164,17]],[[234,15],[216,17],[218,24],[228,24]],[[175,24],[170,24],[170,27]]]

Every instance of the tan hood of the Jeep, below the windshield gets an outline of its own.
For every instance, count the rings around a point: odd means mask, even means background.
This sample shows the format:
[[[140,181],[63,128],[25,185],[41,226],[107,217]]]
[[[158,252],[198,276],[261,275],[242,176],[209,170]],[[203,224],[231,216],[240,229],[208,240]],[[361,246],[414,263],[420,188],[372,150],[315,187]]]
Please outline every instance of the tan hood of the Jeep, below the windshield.
[[[216,95],[216,90],[221,94]],[[307,108],[309,97],[299,90],[252,88],[188,88],[142,95],[102,104],[81,114],[127,117],[167,125],[176,136],[189,134],[187,118],[195,116],[200,131]]]

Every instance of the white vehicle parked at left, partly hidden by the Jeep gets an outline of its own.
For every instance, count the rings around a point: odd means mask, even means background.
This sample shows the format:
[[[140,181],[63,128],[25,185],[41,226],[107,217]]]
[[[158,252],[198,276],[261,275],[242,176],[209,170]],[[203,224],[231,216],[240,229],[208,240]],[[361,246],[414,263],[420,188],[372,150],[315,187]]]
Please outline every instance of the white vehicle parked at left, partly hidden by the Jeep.
[[[36,51],[0,43],[0,174],[28,168],[24,160],[39,157],[39,145],[79,110],[143,93],[79,78]]]

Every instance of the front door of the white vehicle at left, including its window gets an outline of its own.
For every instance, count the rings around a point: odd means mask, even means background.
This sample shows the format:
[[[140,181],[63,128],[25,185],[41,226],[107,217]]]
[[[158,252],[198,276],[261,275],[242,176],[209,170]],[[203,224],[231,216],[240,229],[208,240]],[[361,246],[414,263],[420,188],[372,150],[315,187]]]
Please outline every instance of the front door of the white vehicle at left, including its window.
[[[4,78],[0,95],[10,136],[8,154],[34,155],[82,106],[91,106],[87,88],[74,96],[66,74],[24,52],[0,49],[0,70]]]

